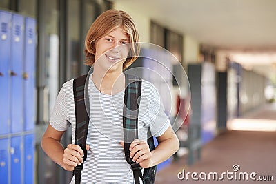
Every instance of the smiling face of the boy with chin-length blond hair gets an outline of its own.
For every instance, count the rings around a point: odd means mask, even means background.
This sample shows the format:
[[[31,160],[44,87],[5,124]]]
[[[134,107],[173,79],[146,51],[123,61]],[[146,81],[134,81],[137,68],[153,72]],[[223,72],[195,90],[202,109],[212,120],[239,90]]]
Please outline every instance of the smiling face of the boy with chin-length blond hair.
[[[105,70],[121,69],[130,51],[130,38],[121,28],[115,28],[95,45],[95,65],[101,65]]]

